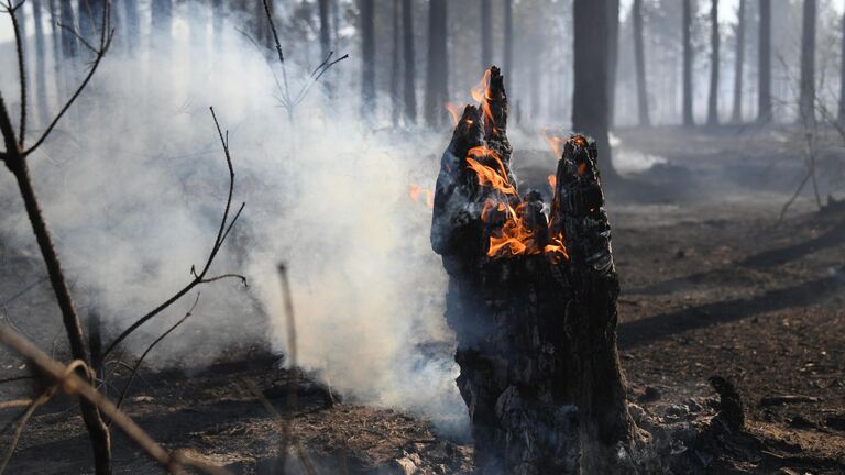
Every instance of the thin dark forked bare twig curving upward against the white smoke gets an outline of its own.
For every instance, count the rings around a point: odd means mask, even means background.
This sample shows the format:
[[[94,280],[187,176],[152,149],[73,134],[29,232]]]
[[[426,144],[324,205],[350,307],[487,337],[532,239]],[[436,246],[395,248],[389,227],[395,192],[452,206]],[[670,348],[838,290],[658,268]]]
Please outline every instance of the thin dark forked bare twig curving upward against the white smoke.
[[[106,358],[111,352],[123,341],[132,334],[135,330],[138,330],[142,324],[146,323],[150,319],[157,316],[162,311],[164,311],[167,307],[173,305],[175,301],[179,300],[183,296],[188,294],[194,287],[200,285],[200,284],[210,284],[216,280],[220,280],[222,278],[233,277],[239,278],[243,285],[246,285],[246,277],[238,274],[223,274],[216,277],[209,277],[206,278],[206,274],[208,274],[208,269],[211,267],[211,264],[215,262],[215,257],[217,257],[217,253],[220,251],[220,247],[222,247],[223,242],[226,242],[226,238],[229,235],[229,232],[232,230],[232,227],[238,221],[238,218],[241,216],[241,211],[243,211],[243,207],[246,206],[245,202],[241,203],[241,207],[238,209],[238,212],[234,213],[234,217],[229,220],[229,214],[231,212],[232,207],[232,195],[234,194],[234,168],[232,167],[232,156],[229,152],[229,131],[226,131],[226,134],[223,134],[222,130],[220,129],[220,123],[217,121],[217,115],[215,114],[215,108],[209,108],[211,111],[211,118],[215,120],[215,126],[217,128],[217,134],[220,137],[220,144],[223,148],[223,155],[226,156],[226,164],[229,167],[229,192],[226,198],[226,207],[223,209],[223,217],[220,220],[220,227],[217,231],[217,236],[215,238],[215,243],[211,246],[211,252],[208,254],[208,257],[206,258],[206,263],[202,265],[202,268],[199,273],[196,270],[196,266],[190,267],[190,274],[194,276],[194,279],[188,283],[185,287],[182,288],[182,290],[177,291],[173,297],[165,300],[163,303],[161,303],[158,307],[154,308],[140,319],[138,319],[134,323],[129,325],[123,332],[114,339],[111,344],[106,349],[106,351],[102,352],[102,357]]]

